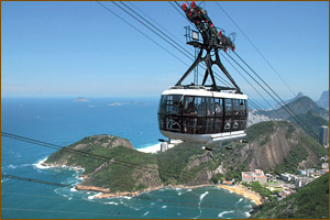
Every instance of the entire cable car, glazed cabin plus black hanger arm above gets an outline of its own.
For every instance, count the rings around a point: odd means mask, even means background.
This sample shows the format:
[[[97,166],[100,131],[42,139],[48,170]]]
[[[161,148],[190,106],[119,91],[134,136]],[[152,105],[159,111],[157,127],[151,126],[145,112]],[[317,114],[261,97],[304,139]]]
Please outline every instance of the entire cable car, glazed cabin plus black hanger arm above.
[[[183,9],[201,33],[204,41],[198,41],[196,32],[193,33],[193,40],[189,34],[186,35],[190,40],[187,44],[199,48],[199,54],[179,81],[162,94],[158,108],[160,131],[168,139],[207,144],[242,139],[246,135],[248,96],[242,94],[219,57],[220,50],[234,50],[234,44],[222,32],[215,34],[217,29],[207,12],[195,2],[191,2],[190,9],[183,4]],[[204,51],[206,55],[202,57]],[[211,52],[215,52],[215,61]],[[182,85],[201,62],[207,67],[201,85]],[[217,86],[213,64],[219,66],[234,88]],[[206,85],[208,76],[212,85]]]

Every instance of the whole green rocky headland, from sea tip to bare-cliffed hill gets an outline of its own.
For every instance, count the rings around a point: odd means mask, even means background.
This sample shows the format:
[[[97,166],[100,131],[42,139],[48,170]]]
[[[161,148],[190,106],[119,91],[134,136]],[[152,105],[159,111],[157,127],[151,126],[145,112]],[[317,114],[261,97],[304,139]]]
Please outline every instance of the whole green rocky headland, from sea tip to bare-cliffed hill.
[[[95,135],[55,152],[45,164],[82,167],[84,182],[77,188],[116,194],[240,179],[242,170],[255,168],[295,173],[298,167],[318,166],[328,154],[290,122],[262,122],[246,133],[249,144],[227,142],[205,151],[201,144],[182,143],[158,154],[139,152],[121,138]]]

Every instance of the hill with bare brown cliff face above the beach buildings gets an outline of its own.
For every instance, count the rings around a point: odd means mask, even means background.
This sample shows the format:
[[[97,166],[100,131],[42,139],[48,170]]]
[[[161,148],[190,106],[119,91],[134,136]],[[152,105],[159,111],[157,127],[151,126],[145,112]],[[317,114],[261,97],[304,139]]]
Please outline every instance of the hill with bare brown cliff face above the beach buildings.
[[[318,167],[319,158],[329,154],[317,141],[287,121],[253,124],[246,134],[249,144],[238,144],[224,153],[222,168],[227,173],[232,170],[237,178],[240,178],[240,170],[256,168],[275,174],[297,173],[297,168]]]

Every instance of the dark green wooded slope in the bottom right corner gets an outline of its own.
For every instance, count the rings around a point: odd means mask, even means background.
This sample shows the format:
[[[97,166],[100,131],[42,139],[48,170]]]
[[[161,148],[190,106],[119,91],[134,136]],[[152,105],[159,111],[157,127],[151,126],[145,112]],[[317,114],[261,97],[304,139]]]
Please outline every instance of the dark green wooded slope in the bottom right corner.
[[[256,207],[251,219],[329,219],[329,173],[296,194]]]

